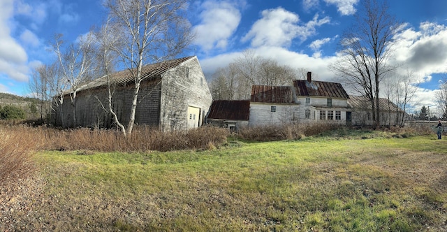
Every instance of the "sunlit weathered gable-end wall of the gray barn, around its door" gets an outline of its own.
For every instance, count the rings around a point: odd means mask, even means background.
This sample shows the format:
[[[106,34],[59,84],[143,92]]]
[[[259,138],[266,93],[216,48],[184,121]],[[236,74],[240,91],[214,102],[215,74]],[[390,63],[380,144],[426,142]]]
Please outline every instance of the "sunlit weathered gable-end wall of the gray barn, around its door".
[[[212,96],[196,57],[165,73],[161,83],[160,126],[163,131],[187,128],[188,106],[200,108],[201,125]]]

